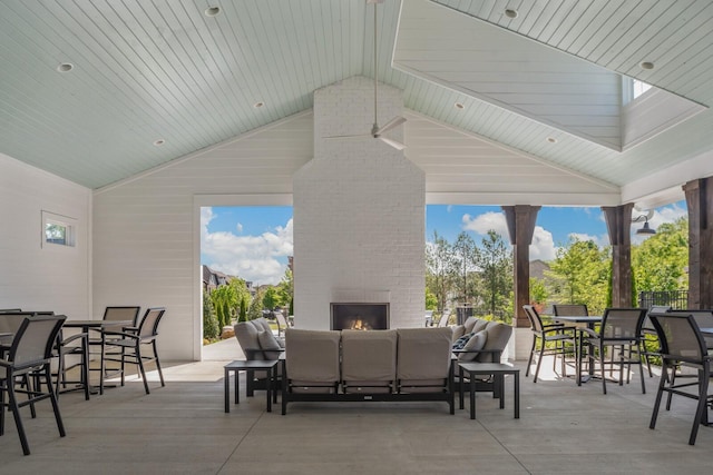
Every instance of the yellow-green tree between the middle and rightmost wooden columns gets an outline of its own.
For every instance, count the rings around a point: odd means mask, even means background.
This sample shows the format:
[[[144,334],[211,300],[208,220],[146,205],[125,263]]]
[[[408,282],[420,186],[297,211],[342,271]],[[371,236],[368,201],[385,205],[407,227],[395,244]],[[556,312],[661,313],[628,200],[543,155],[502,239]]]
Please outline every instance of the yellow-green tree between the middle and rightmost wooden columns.
[[[656,234],[632,246],[632,274],[637,291],[688,288],[688,220],[658,226]]]

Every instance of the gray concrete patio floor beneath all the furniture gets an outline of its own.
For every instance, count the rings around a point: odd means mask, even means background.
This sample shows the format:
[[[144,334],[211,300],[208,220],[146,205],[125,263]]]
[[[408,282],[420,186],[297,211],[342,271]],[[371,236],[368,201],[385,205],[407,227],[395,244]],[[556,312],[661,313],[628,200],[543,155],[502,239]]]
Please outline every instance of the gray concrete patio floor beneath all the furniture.
[[[520,419],[510,378],[505,410],[479,394],[476,420],[467,410],[449,415],[443,403],[291,404],[282,416],[265,412],[262,392],[245,398],[244,385],[241,404],[225,414],[223,365],[242,355],[235,340],[219,345],[204,362],[167,363],[166,387],[152,372],[150,395],[136,378],[89,402],[62,395],[64,438],[48,402],[36,419],[26,408],[27,457],[10,416],[0,473],[686,474],[711,465],[713,428],[701,427],[687,445],[693,402],[676,398],[648,428],[657,377],[646,379],[646,395],[637,379],[603,395],[598,382],[577,387],[553,374],[550,359],[533,384],[518,362]]]

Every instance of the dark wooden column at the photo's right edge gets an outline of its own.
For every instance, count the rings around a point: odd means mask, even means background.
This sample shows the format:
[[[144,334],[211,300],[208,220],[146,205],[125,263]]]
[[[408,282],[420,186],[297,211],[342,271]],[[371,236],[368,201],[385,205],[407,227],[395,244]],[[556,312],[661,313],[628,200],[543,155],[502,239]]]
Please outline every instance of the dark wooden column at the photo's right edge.
[[[713,177],[683,186],[688,207],[688,308],[713,308]]]

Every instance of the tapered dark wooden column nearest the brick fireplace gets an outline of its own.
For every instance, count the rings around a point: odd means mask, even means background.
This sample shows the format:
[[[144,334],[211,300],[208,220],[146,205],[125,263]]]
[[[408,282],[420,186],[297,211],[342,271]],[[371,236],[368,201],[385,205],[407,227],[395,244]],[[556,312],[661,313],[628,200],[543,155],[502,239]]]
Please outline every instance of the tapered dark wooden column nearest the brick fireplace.
[[[515,318],[512,326],[529,327],[529,320],[522,310],[522,305],[530,303],[530,249],[533,232],[540,206],[516,205],[504,206],[505,219],[508,225],[510,244],[512,245],[512,266],[515,278]]]

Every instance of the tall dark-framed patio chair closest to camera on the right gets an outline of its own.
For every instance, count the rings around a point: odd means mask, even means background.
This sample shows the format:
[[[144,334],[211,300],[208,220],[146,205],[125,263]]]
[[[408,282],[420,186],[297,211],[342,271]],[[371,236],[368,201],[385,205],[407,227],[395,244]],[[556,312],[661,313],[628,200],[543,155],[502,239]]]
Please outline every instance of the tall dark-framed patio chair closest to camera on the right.
[[[651,320],[658,333],[661,342],[661,379],[654,410],[651,416],[649,428],[656,428],[658,409],[664,393],[671,396],[678,395],[697,400],[693,427],[688,436],[688,444],[694,445],[699,434],[699,426],[707,424],[707,406],[713,402],[713,395],[709,394],[711,379],[711,356],[707,353],[705,339],[699,329],[693,315],[688,313],[652,314]],[[676,378],[677,367],[685,367],[695,380],[681,383],[681,376]],[[678,382],[677,382],[678,380]],[[686,389],[690,388],[690,389]],[[693,389],[693,390],[692,390]],[[671,400],[666,404],[666,410],[671,409]]]

